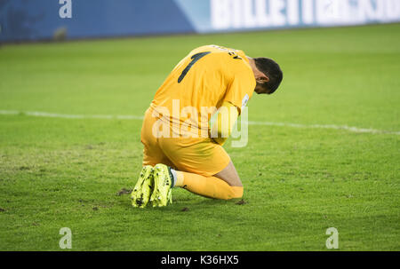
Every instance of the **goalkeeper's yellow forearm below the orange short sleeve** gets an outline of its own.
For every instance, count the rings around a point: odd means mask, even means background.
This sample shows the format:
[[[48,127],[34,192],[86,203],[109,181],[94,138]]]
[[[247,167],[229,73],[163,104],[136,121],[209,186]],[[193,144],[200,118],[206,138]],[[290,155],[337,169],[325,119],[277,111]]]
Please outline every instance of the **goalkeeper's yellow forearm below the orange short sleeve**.
[[[212,123],[211,137],[221,146],[227,141],[236,123],[239,111],[230,102],[224,101],[217,111],[217,117]]]

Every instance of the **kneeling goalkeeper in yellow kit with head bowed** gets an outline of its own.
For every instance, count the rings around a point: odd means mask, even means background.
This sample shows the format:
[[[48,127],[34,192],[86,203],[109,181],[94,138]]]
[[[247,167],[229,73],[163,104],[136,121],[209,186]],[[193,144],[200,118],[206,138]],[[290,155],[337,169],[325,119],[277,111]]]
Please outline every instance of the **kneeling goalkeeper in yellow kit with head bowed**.
[[[271,94],[282,78],[272,59],[253,59],[217,45],[190,51],[146,111],[143,168],[132,190],[132,205],[165,206],[172,202],[175,186],[215,199],[241,198],[242,182],[222,145],[253,91]],[[210,127],[215,113],[217,120]]]

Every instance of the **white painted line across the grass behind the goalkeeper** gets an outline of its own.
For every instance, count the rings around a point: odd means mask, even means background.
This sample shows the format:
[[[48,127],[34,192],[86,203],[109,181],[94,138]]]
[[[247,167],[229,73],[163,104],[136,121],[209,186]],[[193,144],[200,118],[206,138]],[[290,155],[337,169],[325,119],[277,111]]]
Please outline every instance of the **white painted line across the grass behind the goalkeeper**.
[[[64,119],[117,119],[117,120],[143,120],[143,116],[140,115],[68,115],[68,114],[56,114],[39,111],[16,111],[16,110],[0,110],[0,115],[29,115],[38,117],[52,117],[52,118],[64,118]],[[373,133],[373,134],[394,134],[400,135],[400,131],[385,131],[377,129],[366,129],[358,128],[347,125],[333,125],[333,124],[300,124],[300,123],[271,123],[271,122],[248,122],[249,125],[268,125],[268,126],[283,126],[292,128],[308,128],[308,129],[333,129],[333,130],[345,130],[358,133]]]

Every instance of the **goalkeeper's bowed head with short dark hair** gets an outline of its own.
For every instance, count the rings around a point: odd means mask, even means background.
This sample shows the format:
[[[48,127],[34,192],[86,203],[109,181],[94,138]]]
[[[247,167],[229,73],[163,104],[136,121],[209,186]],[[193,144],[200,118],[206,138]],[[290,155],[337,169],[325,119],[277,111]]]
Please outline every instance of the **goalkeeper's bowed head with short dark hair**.
[[[272,94],[284,78],[281,67],[273,59],[263,57],[253,59],[255,66],[260,71],[260,73],[254,73],[257,82],[254,91],[259,94]]]

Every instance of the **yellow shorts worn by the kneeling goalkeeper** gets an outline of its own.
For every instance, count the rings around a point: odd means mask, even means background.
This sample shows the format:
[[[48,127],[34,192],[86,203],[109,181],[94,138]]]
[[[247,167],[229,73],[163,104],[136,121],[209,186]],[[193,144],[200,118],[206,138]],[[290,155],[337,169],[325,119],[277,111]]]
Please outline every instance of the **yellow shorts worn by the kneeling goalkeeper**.
[[[141,127],[143,166],[164,163],[204,177],[212,177],[228,166],[229,155],[211,138],[156,138],[153,126],[157,120],[148,108]]]

